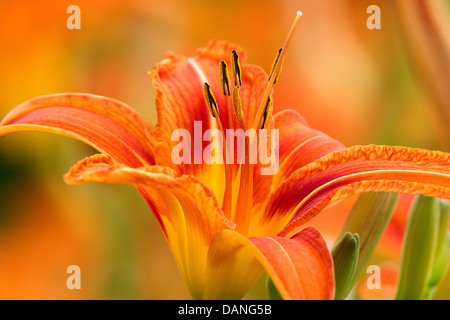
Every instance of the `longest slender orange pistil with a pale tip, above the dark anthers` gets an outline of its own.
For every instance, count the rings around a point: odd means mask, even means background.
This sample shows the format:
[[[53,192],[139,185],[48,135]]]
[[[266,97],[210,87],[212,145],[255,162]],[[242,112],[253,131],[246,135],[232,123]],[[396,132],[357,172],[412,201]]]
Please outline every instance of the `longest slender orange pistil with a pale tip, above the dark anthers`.
[[[277,58],[275,59],[275,65],[272,67],[272,71],[269,77],[269,83],[267,84],[266,91],[264,92],[263,99],[261,100],[261,105],[259,106],[256,116],[254,118],[254,122],[252,124],[252,128],[258,128],[263,122],[263,116],[264,112],[266,110],[266,105],[269,100],[270,91],[272,90],[272,87],[279,76],[279,71],[281,69],[281,65],[284,60],[284,56],[286,54],[287,48],[289,46],[289,43],[291,42],[292,36],[294,34],[294,31],[297,27],[298,21],[300,17],[302,16],[301,11],[297,11],[297,15],[294,19],[294,22],[292,23],[291,29],[289,30],[288,36],[286,38],[286,41],[284,42],[283,47],[281,50],[279,50],[279,55],[277,55]]]

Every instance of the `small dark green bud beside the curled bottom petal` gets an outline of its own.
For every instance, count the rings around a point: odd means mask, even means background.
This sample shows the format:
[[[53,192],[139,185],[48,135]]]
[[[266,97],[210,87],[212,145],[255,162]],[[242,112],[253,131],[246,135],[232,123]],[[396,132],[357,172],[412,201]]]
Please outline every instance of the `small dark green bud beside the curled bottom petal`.
[[[359,255],[359,235],[346,232],[331,251],[336,283],[335,300],[344,300],[353,286]]]

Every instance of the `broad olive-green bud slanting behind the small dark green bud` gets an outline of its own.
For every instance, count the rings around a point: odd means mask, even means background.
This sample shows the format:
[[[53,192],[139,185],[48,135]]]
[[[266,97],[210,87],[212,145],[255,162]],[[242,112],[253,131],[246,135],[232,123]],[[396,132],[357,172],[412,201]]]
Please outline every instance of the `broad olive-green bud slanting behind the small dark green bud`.
[[[341,239],[346,232],[359,235],[359,256],[351,287],[364,271],[364,266],[389,224],[397,200],[397,193],[363,193],[348,215],[337,239]]]

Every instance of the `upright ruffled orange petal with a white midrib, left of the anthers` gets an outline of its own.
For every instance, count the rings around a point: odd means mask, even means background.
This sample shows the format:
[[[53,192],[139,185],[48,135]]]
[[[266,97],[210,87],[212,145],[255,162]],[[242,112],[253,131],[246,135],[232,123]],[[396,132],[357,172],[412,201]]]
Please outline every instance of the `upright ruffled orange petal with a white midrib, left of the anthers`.
[[[227,53],[226,49],[229,52]],[[164,60],[156,64],[149,75],[156,88],[156,108],[158,121],[155,125],[155,148],[157,164],[176,168],[170,158],[173,147],[177,144],[171,140],[172,133],[177,129],[186,129],[194,134],[194,121],[201,122],[200,143],[203,148],[207,145],[201,141],[206,130],[215,127],[214,118],[206,105],[203,84],[208,82],[212,94],[217,100],[219,114],[226,115],[226,99],[221,92],[219,78],[219,62],[229,60],[231,50],[238,49],[226,42],[211,42],[207,48],[199,50],[199,54],[192,58],[166,54]],[[223,111],[223,112],[222,112]],[[226,120],[224,118],[224,120]],[[223,123],[224,127],[225,123]],[[194,141],[193,141],[194,142]],[[194,163],[194,161],[192,161]],[[192,173],[198,166],[186,166],[183,173]],[[201,169],[201,168],[200,168]]]

